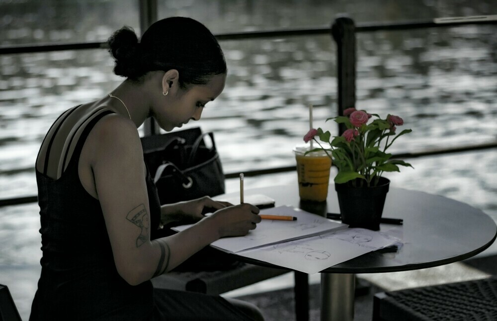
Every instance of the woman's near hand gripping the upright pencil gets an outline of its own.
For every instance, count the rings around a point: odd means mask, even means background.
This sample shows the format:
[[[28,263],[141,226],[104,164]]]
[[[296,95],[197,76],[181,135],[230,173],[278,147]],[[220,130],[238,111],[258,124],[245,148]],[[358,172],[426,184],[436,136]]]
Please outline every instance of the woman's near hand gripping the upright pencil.
[[[216,211],[205,220],[212,220],[213,226],[217,228],[219,237],[244,236],[250,230],[255,229],[260,222],[257,215],[259,209],[254,205],[244,203],[236,206],[229,206]]]

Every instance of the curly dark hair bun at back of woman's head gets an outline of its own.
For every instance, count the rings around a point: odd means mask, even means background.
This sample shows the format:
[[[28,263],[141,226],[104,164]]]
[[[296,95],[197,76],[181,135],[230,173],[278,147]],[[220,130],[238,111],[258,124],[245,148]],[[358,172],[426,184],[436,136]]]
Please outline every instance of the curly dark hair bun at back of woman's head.
[[[145,74],[141,67],[141,52],[138,37],[133,28],[124,26],[115,31],[107,41],[109,53],[114,57],[114,73],[130,79]]]

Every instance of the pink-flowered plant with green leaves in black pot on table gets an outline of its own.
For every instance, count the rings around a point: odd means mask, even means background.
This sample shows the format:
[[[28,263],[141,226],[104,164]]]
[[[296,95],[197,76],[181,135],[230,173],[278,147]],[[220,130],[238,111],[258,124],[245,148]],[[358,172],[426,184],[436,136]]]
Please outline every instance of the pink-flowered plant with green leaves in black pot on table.
[[[377,114],[355,108],[344,110],[343,115],[327,119],[345,125],[347,129],[342,135],[331,137],[330,131],[313,128],[304,136],[304,141],[314,139],[320,147],[313,150],[325,151],[338,168],[334,182],[342,221],[351,226],[379,229],[390,184],[382,177],[383,173],[399,172],[399,166],[411,166],[403,160],[392,159],[387,149],[412,130],[397,132],[404,121],[394,115],[381,119]],[[316,137],[329,143],[330,148],[324,148]]]

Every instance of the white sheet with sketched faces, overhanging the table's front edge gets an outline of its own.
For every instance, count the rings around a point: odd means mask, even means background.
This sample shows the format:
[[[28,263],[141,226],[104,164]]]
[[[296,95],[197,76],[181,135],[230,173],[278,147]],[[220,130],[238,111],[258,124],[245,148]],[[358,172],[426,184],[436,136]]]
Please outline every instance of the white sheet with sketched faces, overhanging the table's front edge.
[[[396,242],[380,232],[351,228],[237,254],[313,274]]]

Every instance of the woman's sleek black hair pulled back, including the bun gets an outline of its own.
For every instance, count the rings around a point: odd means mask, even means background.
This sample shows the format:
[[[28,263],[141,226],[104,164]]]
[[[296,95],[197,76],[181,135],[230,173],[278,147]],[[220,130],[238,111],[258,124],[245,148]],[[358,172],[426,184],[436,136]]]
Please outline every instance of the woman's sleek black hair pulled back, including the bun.
[[[179,84],[206,84],[227,72],[223,51],[202,23],[170,17],[153,23],[140,42],[132,28],[124,26],[108,40],[115,59],[114,73],[139,81],[149,71],[176,69]]]

